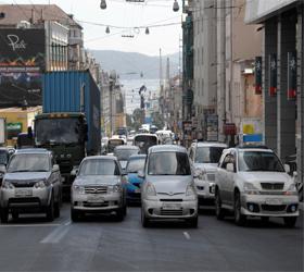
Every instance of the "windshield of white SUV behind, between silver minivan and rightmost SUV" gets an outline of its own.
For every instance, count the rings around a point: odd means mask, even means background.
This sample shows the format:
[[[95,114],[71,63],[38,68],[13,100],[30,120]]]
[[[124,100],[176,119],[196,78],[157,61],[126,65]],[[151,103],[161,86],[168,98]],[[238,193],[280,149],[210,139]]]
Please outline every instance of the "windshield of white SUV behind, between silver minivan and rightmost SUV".
[[[197,163],[218,163],[225,147],[198,147],[195,152]]]

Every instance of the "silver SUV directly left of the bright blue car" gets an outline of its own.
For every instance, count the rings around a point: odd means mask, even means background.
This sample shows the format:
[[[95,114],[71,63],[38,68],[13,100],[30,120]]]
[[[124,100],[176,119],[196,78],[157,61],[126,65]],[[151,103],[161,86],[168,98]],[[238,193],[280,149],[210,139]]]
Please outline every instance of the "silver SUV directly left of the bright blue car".
[[[127,213],[126,176],[113,156],[91,156],[80,163],[72,186],[71,219],[86,213],[115,212],[118,220]]]

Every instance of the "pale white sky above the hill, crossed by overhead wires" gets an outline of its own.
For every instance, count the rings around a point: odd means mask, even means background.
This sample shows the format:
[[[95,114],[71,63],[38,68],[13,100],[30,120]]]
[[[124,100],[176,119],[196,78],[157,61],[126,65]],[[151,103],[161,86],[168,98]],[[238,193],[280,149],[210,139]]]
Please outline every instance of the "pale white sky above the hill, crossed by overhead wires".
[[[181,8],[181,0],[178,2]],[[35,3],[58,4],[66,13],[73,13],[84,27],[87,49],[139,52],[148,55],[159,55],[160,48],[163,54],[179,51],[181,9],[178,12],[173,11],[174,0],[144,0],[144,3],[106,0],[105,10],[100,9],[100,0],[0,0],[0,4]],[[107,25],[110,34],[105,33]],[[140,26],[143,28],[139,28]],[[150,26],[149,35],[145,34],[145,26]]]

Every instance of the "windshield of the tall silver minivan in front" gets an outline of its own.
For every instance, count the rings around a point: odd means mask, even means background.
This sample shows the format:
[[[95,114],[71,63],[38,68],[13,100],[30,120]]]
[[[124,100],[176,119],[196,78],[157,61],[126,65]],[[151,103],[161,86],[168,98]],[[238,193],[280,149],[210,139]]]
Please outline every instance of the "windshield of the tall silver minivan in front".
[[[174,151],[151,153],[148,173],[149,175],[191,175],[188,154]]]

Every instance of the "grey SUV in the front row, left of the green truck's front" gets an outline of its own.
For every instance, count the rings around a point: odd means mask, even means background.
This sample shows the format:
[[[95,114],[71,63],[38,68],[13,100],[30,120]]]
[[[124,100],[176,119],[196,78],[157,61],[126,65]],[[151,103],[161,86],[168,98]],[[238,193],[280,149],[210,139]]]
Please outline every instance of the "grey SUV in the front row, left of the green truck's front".
[[[59,165],[46,149],[20,149],[10,159],[1,186],[1,222],[9,213],[46,212],[53,221],[60,217],[62,184]]]

